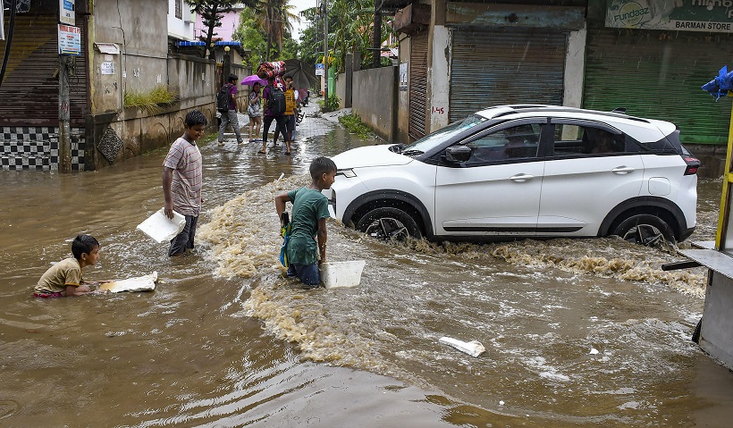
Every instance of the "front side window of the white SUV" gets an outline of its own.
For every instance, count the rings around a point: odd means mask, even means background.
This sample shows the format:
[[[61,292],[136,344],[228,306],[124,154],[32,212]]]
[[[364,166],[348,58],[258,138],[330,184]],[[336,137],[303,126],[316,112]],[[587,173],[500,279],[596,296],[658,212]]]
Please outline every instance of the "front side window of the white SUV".
[[[497,130],[466,143],[467,147],[471,147],[471,157],[466,166],[536,157],[539,140],[539,124],[523,124]]]

